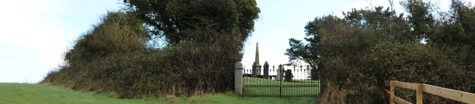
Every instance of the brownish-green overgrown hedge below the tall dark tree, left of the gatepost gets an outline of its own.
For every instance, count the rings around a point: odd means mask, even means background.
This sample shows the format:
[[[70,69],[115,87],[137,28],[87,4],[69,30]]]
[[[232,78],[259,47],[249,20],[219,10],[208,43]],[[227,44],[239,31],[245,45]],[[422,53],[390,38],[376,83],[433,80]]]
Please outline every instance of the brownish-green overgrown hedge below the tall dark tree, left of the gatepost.
[[[127,16],[123,12],[104,16],[104,22],[82,35],[66,52],[66,63],[48,73],[41,83],[112,93],[120,98],[201,95],[233,87],[232,66],[242,58],[245,38],[234,33],[196,31],[190,36],[199,37],[151,48],[143,42],[150,39],[147,32],[140,32],[146,28],[127,28],[136,24],[120,23],[121,19],[129,20]]]

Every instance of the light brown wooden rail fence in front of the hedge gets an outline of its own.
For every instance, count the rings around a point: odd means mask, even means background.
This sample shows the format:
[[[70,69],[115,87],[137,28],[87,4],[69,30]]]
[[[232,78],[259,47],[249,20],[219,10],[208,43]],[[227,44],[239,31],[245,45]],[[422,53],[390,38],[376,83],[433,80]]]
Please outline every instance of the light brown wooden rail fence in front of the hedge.
[[[442,88],[433,85],[426,85],[426,84],[417,84],[417,83],[407,83],[407,82],[398,82],[398,81],[390,81],[388,83],[384,83],[384,87],[390,87],[390,91],[384,88],[384,93],[389,99],[390,104],[412,104],[408,101],[405,101],[397,96],[394,96],[394,87],[401,87],[407,88],[412,90],[417,90],[416,101],[417,104],[422,104],[422,92],[427,92],[433,95],[442,96],[445,98],[449,98],[452,100],[456,100],[459,102],[467,103],[467,104],[475,104],[475,94],[461,92],[457,90]]]

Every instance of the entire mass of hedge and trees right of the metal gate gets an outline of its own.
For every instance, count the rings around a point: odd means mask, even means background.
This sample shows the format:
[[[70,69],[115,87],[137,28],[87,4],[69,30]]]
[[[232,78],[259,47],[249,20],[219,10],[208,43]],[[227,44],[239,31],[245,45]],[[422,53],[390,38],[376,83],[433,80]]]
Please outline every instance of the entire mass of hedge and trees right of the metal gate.
[[[319,38],[309,44],[319,43],[319,49],[306,53],[319,54],[323,81],[342,86],[347,91],[346,103],[353,104],[387,102],[382,84],[390,80],[474,93],[475,46],[470,29],[475,23],[474,8],[453,0],[447,16],[435,19],[430,2],[406,0],[401,4],[408,17],[374,7],[352,9],[343,13],[343,19],[323,16],[309,22],[307,36],[313,33]],[[428,43],[421,43],[423,39]],[[305,47],[295,39],[291,46],[294,50]],[[401,90],[397,96],[414,102],[411,91]],[[425,95],[424,102],[454,103],[434,95]]]

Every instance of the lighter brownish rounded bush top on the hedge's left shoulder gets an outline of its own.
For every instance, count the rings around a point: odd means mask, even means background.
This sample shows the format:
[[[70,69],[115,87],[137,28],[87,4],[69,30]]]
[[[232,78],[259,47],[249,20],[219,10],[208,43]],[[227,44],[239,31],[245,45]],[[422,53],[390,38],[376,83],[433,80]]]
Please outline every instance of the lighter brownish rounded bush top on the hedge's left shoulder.
[[[143,50],[151,37],[142,21],[131,13],[108,12],[97,25],[81,35],[66,53],[66,61],[89,61],[109,54]]]

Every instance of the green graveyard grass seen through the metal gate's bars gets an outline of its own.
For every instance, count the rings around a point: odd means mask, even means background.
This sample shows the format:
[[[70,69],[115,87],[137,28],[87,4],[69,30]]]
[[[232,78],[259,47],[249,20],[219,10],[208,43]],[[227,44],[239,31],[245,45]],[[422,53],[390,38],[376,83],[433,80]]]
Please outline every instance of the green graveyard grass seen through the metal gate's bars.
[[[313,80],[293,80],[296,82],[284,82],[263,78],[244,78],[244,93],[245,95],[259,95],[259,96],[310,96],[320,93],[320,81]],[[280,85],[282,83],[282,92],[280,92]],[[246,87],[255,86],[255,87]],[[260,87],[266,86],[266,87]],[[272,86],[272,87],[269,87]],[[298,87],[295,87],[298,86]]]

